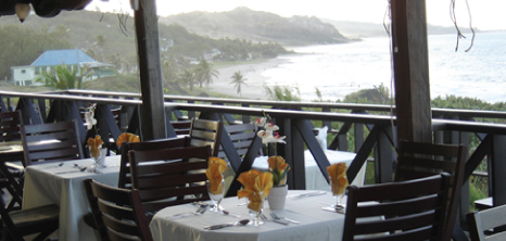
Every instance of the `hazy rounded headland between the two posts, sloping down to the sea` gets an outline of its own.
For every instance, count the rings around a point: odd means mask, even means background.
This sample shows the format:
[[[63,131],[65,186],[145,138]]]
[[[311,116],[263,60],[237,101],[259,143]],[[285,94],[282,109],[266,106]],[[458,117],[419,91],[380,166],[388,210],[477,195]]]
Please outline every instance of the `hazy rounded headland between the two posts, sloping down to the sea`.
[[[228,12],[190,12],[161,17],[160,23],[177,23],[190,33],[214,39],[239,38],[281,45],[347,42],[331,24],[312,16],[281,17],[274,13],[237,8]]]

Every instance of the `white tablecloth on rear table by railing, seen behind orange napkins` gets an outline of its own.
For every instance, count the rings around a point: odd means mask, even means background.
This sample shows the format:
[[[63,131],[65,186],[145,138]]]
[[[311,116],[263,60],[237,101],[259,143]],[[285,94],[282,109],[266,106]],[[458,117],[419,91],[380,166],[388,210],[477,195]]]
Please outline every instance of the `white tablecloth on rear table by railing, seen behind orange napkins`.
[[[355,153],[353,152],[343,152],[343,151],[333,151],[333,150],[325,150],[325,154],[330,162],[330,165],[334,163],[346,163],[346,166],[350,167],[352,164],[353,158],[355,158]],[[318,165],[316,165],[315,158],[313,154],[311,154],[309,150],[304,151],[304,164],[305,164],[305,172],[306,172],[306,190],[324,190],[330,191],[330,186],[327,180],[324,178]],[[267,156],[260,156],[255,158],[253,163],[253,168],[256,169],[267,169]],[[352,185],[355,186],[363,186],[364,185],[364,176],[365,176],[366,165],[360,168],[358,174],[356,175],[355,179],[353,179]],[[290,173],[289,173],[290,175]]]

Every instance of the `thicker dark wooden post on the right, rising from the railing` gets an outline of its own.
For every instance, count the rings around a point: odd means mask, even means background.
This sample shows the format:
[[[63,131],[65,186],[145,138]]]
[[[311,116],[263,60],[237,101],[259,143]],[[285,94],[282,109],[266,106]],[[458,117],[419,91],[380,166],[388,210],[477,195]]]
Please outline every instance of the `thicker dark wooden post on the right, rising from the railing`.
[[[399,140],[432,142],[426,1],[392,0]]]

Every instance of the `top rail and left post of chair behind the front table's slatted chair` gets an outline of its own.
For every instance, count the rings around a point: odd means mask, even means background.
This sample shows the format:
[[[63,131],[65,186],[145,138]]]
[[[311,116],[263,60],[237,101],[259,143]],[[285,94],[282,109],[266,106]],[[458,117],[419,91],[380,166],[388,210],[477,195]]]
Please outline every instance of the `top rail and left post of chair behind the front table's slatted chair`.
[[[123,143],[121,148],[122,158],[119,164],[119,179],[117,187],[131,189],[130,161],[128,158],[129,151],[153,151],[159,149],[182,148],[189,145],[189,137]]]

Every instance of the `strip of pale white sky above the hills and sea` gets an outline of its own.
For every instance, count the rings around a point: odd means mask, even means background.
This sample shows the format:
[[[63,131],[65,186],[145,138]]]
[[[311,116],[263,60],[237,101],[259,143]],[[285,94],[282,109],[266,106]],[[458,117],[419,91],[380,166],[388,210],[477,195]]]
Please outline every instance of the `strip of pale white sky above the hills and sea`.
[[[454,0],[455,16],[459,27],[469,26],[469,4],[471,25],[481,30],[506,29],[505,0]],[[130,0],[93,0],[87,9],[103,12],[131,12]],[[255,11],[271,12],[284,17],[308,15],[336,21],[352,21],[382,24],[388,0],[156,0],[159,15],[206,11],[231,11],[246,7]],[[426,0],[427,22],[437,26],[453,26],[450,14],[452,0]]]

